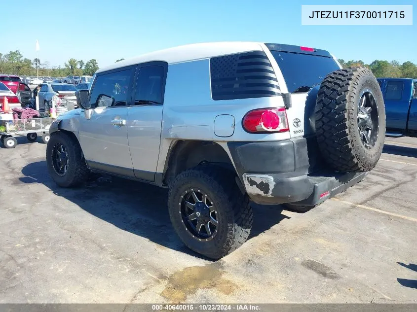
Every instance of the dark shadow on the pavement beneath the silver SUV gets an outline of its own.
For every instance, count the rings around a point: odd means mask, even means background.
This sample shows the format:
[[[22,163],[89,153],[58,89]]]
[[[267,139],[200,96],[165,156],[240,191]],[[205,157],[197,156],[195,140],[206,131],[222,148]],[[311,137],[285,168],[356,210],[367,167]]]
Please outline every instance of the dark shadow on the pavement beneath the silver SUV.
[[[41,183],[88,213],[132,234],[170,249],[206,259],[187,248],[172,228],[167,189],[112,176],[99,176],[79,188],[57,186],[47,173],[46,161],[23,167],[23,183]],[[284,218],[281,206],[253,205],[254,224],[249,239],[270,229]]]

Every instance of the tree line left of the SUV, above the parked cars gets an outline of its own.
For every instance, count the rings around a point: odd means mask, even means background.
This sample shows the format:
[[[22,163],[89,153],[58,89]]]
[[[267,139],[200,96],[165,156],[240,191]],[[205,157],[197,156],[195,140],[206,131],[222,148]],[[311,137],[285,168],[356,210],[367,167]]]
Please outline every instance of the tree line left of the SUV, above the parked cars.
[[[18,50],[7,54],[0,53],[0,73],[20,76],[65,77],[68,75],[93,75],[99,69],[97,60],[92,59],[84,63],[83,60],[69,59],[64,67],[51,67],[48,61],[41,62],[38,58],[30,60],[23,58]]]

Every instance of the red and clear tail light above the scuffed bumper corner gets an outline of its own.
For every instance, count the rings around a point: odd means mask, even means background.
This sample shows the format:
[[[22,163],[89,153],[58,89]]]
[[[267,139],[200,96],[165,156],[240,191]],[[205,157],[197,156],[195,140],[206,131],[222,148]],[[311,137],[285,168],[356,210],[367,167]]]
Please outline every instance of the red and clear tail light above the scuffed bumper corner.
[[[285,107],[251,110],[243,117],[242,124],[243,128],[250,133],[286,132],[290,130]]]

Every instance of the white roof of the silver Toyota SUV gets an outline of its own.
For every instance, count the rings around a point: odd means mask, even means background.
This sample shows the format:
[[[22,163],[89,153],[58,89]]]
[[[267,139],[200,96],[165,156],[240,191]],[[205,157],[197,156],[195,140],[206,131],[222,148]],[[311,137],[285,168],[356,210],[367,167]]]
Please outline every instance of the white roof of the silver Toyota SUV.
[[[96,72],[117,69],[129,65],[135,65],[152,61],[164,61],[168,64],[187,62],[192,60],[206,59],[213,56],[227,55],[239,52],[261,51],[259,42],[208,42],[181,45],[174,48],[154,51],[147,54],[116,62]]]

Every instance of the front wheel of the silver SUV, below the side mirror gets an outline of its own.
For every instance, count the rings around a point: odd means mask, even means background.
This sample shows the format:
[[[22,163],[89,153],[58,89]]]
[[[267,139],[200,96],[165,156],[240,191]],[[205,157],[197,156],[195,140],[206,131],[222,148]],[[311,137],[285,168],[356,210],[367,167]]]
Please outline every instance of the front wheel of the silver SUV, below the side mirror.
[[[52,179],[62,187],[81,184],[89,173],[78,141],[62,131],[54,132],[48,140],[46,165]]]

